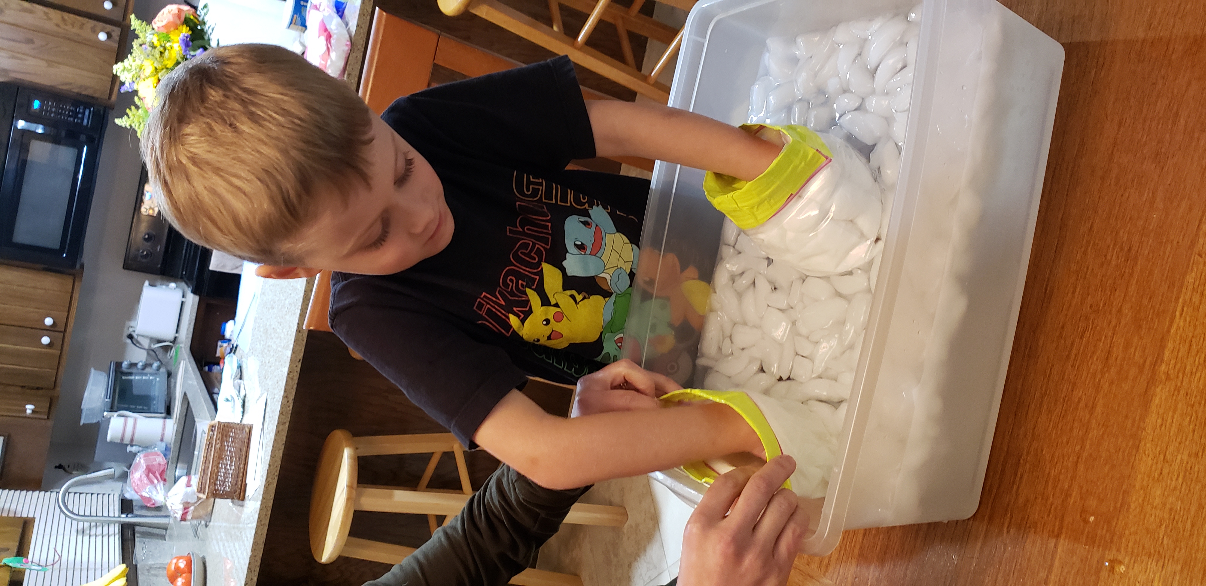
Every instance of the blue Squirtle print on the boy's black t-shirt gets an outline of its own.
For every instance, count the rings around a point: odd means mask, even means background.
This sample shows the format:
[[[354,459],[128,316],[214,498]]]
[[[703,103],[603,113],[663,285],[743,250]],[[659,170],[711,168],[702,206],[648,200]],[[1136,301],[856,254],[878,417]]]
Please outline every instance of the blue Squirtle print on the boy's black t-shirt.
[[[616,232],[603,207],[591,207],[590,217],[566,218],[567,275],[592,276],[603,288],[622,293],[632,283],[628,273],[637,270],[637,245]]]

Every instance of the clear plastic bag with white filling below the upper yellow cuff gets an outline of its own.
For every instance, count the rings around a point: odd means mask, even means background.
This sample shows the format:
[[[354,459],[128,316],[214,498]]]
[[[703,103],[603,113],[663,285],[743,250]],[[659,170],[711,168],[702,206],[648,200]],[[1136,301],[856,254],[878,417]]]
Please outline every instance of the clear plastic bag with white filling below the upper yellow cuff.
[[[830,276],[871,263],[879,254],[883,192],[871,168],[849,143],[821,140],[832,160],[783,207],[745,235],[768,257],[810,276]]]

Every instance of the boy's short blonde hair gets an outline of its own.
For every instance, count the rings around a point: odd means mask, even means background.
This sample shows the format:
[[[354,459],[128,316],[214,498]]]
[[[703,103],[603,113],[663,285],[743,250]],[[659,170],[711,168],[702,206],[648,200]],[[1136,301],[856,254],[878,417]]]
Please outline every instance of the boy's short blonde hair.
[[[166,218],[203,246],[298,264],[293,240],[327,203],[318,193],[346,198],[350,183],[369,182],[368,106],[285,48],[213,48],[157,94],[142,160]]]

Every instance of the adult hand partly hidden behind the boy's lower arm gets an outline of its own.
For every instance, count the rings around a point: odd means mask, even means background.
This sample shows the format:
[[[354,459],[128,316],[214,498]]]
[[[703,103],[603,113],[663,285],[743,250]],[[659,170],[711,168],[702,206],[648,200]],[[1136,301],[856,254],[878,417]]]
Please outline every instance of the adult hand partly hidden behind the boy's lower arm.
[[[657,409],[658,397],[680,388],[669,376],[650,373],[625,358],[578,379],[570,417]]]

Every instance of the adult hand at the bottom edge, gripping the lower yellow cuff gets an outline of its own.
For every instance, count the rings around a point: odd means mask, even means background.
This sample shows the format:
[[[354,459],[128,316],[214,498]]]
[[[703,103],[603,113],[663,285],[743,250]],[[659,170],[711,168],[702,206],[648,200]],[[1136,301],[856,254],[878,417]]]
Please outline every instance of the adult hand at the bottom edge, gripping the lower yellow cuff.
[[[716,479],[686,523],[679,586],[783,586],[808,515],[783,481],[796,469],[779,456],[760,470]]]

